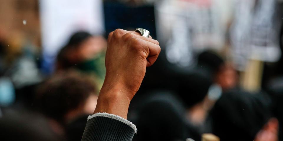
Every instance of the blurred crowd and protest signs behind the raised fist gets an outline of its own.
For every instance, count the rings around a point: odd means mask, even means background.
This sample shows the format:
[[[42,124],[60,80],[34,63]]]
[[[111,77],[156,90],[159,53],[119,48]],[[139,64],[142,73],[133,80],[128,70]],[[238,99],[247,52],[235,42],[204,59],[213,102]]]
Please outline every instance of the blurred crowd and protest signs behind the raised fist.
[[[283,140],[282,0],[0,0],[0,19],[0,140],[80,140],[108,34],[137,27],[162,51],[134,140]]]

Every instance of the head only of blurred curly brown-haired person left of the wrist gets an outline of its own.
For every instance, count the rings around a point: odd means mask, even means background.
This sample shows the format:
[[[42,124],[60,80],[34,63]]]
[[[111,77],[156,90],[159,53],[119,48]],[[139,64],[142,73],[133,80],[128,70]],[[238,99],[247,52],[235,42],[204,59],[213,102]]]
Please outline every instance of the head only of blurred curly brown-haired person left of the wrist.
[[[75,72],[52,76],[39,86],[37,93],[37,103],[42,112],[64,124],[81,115],[91,114],[96,99],[94,83]]]

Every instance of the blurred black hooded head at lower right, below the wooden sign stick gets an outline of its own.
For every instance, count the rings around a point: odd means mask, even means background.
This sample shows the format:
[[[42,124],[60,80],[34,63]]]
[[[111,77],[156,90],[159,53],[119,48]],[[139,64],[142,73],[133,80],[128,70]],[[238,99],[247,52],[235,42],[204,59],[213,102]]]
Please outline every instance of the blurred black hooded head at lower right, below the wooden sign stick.
[[[215,103],[206,124],[221,140],[254,140],[272,118],[270,102],[264,93],[229,90]]]

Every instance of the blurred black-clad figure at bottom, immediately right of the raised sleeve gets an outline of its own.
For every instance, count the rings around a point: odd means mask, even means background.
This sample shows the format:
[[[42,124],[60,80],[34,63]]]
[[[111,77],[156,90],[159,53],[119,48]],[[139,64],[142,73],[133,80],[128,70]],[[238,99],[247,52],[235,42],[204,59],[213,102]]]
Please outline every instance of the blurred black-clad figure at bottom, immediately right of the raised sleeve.
[[[186,119],[184,103],[172,90],[142,93],[139,101],[131,106],[128,118],[139,129],[134,141],[200,139],[200,133]]]

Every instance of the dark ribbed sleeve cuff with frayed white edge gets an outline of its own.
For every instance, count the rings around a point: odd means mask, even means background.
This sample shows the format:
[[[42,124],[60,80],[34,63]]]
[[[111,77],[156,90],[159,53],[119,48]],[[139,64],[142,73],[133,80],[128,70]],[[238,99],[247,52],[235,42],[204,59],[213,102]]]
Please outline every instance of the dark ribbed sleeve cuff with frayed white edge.
[[[113,114],[96,113],[88,117],[82,141],[131,141],[136,126]]]

